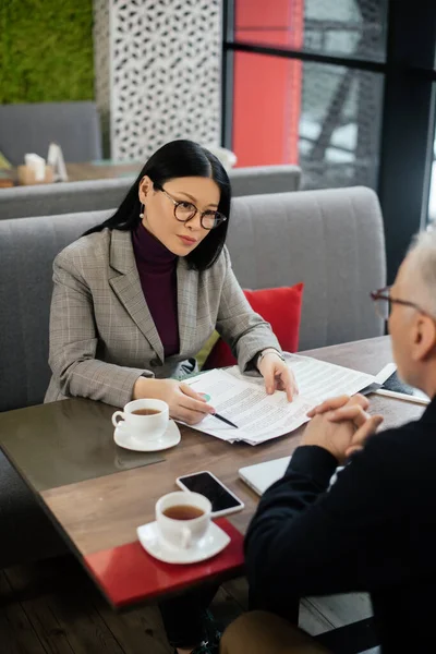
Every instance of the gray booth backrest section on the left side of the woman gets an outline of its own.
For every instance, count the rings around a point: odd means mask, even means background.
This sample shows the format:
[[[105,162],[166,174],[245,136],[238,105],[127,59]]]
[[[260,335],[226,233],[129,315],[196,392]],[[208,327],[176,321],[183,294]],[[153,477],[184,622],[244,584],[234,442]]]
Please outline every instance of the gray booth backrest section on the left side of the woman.
[[[0,411],[43,402],[53,259],[110,214],[0,220]]]

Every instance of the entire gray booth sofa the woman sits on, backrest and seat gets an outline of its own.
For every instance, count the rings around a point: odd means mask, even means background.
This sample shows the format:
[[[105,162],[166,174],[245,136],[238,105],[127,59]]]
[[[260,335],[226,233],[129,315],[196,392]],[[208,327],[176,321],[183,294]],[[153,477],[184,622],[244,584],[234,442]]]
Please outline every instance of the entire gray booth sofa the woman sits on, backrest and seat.
[[[111,211],[0,221],[0,411],[43,401],[56,254]],[[385,284],[380,208],[363,187],[233,201],[228,245],[244,288],[305,283],[300,349],[379,336],[370,291]],[[32,547],[25,532],[32,525]],[[0,568],[60,540],[0,456]],[[3,534],[7,534],[4,537]]]

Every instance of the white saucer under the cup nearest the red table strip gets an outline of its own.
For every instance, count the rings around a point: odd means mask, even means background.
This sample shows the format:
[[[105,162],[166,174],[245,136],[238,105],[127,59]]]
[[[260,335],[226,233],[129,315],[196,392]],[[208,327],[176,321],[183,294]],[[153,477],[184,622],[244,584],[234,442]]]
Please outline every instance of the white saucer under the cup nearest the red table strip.
[[[165,564],[198,564],[217,555],[230,543],[230,536],[215,522],[210,522],[204,537],[193,547],[178,549],[160,540],[156,522],[142,524],[136,530],[145,552]]]

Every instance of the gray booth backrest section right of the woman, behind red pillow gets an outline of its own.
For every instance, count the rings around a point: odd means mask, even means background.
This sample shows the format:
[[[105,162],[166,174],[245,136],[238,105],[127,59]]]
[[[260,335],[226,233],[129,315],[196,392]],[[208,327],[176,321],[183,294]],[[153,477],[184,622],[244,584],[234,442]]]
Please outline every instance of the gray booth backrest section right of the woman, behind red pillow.
[[[235,198],[229,251],[243,288],[304,282],[300,350],[380,336],[382,211],[365,187]]]

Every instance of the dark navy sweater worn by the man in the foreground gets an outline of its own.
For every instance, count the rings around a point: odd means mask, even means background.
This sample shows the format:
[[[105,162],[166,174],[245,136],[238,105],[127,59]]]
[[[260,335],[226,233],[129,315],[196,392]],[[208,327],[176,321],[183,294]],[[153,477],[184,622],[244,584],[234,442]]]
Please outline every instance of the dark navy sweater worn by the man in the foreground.
[[[383,432],[339,473],[299,447],[245,540],[254,603],[286,615],[304,595],[367,591],[384,654],[436,651],[436,399]]]

